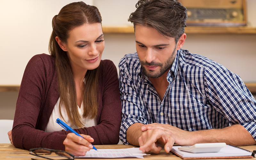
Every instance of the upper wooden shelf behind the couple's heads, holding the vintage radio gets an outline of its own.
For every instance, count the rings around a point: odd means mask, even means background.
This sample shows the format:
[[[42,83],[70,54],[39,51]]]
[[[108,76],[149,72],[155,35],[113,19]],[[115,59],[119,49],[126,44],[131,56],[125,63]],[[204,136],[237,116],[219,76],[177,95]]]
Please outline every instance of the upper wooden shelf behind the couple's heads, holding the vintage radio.
[[[103,33],[134,33],[133,26],[102,26]],[[239,27],[210,27],[210,26],[188,26],[185,28],[187,34],[256,34],[256,28]]]

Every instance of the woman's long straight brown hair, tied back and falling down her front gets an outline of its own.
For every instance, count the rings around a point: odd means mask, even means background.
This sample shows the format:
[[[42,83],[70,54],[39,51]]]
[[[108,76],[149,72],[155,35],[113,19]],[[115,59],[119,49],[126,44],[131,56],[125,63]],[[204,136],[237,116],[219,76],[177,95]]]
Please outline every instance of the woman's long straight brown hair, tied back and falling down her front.
[[[64,104],[71,124],[82,128],[84,122],[79,116],[77,108],[76,87],[67,53],[63,51],[55,37],[67,43],[69,31],[83,24],[101,23],[100,12],[97,7],[84,2],[74,2],[64,6],[58,15],[52,19],[52,35],[49,42],[49,52],[55,58],[58,75],[58,88],[60,94],[59,112],[61,117],[61,104]],[[101,64],[100,64],[101,65]],[[84,113],[83,117],[97,117],[98,112],[98,76],[99,68],[87,70],[84,87]]]

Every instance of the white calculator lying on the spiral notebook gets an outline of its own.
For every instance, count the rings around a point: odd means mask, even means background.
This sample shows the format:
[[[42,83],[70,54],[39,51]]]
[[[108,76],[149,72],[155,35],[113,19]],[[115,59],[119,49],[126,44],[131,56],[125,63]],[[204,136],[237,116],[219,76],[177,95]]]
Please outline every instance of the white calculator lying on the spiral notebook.
[[[193,146],[180,146],[178,149],[181,151],[191,153],[205,153],[205,152],[219,152],[226,143],[197,143]]]

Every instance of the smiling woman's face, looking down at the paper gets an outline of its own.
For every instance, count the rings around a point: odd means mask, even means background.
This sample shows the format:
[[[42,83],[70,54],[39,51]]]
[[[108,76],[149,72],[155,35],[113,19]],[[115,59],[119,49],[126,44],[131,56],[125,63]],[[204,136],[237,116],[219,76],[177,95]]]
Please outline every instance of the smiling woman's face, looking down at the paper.
[[[73,72],[86,72],[100,65],[105,48],[100,23],[84,24],[69,32],[64,51],[67,52]]]

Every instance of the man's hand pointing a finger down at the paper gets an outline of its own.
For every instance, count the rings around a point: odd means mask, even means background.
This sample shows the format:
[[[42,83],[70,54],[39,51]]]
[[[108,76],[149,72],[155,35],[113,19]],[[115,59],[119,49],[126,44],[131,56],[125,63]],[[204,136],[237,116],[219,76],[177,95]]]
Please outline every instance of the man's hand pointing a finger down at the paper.
[[[140,150],[142,152],[159,153],[162,149],[159,145],[164,146],[166,153],[169,153],[173,144],[174,139],[161,129],[148,130],[139,137]]]

